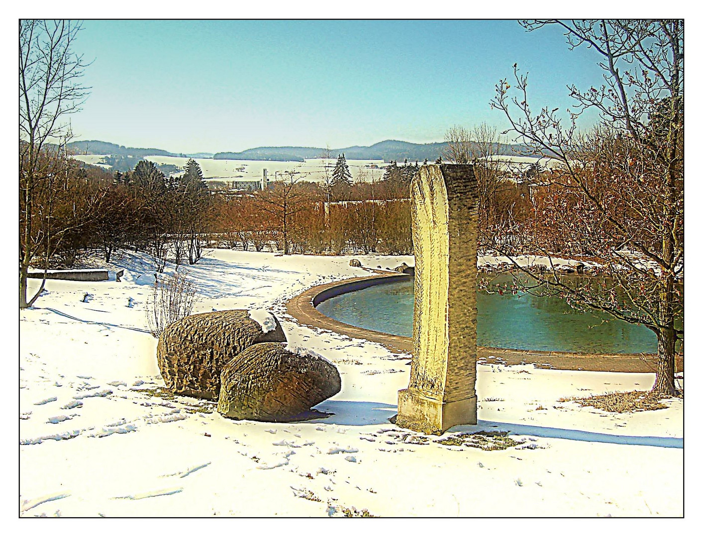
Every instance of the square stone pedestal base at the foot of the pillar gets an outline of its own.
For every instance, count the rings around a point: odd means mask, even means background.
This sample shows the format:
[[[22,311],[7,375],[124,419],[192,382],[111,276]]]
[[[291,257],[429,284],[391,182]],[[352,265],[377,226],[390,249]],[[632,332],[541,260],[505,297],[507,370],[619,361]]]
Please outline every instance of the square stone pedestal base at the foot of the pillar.
[[[442,434],[454,425],[476,425],[476,396],[460,401],[430,399],[412,388],[398,392],[396,425],[425,434]]]

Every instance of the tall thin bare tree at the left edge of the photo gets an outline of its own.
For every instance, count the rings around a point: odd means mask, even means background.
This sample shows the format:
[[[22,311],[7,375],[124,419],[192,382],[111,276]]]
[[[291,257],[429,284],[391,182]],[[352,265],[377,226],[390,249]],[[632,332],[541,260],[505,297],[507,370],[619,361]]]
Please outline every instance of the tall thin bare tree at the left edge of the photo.
[[[20,20],[20,308],[27,300],[27,271],[43,253],[44,276],[63,235],[81,225],[67,219],[54,225],[60,192],[67,186],[67,115],[77,112],[88,89],[80,77],[86,64],[73,53],[80,25],[66,20]],[[79,215],[75,215],[79,216]]]

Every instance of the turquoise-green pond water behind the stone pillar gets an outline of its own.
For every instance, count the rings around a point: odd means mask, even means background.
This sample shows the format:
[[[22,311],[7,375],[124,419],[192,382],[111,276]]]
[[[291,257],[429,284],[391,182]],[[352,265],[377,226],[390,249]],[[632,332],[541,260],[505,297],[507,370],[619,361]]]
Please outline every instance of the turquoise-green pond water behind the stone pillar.
[[[324,315],[368,330],[412,337],[413,281],[385,283],[321,302]],[[483,347],[592,353],[655,353],[652,330],[581,313],[558,297],[477,292],[478,344]],[[602,322],[604,319],[610,319]]]

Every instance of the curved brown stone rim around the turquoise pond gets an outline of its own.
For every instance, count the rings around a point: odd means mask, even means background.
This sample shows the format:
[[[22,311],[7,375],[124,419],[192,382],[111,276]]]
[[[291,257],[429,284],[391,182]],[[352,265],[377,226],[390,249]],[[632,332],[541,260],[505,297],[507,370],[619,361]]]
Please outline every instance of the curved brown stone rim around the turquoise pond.
[[[385,345],[394,352],[413,351],[413,339],[401,337],[375,330],[366,330],[358,326],[347,325],[335,321],[320,313],[316,306],[324,300],[358,291],[371,285],[388,283],[391,280],[409,280],[410,274],[380,273],[374,276],[362,276],[340,282],[325,283],[311,287],[286,304],[288,314],[301,325],[323,328],[347,335],[356,339],[367,339]],[[612,371],[620,373],[655,373],[657,371],[656,354],[588,354],[569,353],[564,351],[526,351],[522,349],[496,349],[494,347],[478,347],[477,358],[481,363],[502,363],[505,365],[520,365],[534,363],[543,369]],[[494,356],[494,358],[490,358]],[[496,358],[498,357],[498,358]],[[485,361],[484,361],[484,359]],[[683,356],[676,357],[676,371],[683,371]]]

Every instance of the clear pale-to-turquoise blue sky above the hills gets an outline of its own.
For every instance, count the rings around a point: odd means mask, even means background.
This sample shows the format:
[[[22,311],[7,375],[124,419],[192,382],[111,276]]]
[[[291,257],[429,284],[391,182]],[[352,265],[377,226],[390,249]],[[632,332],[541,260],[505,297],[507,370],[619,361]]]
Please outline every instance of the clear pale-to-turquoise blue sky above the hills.
[[[514,20],[85,20],[75,51],[91,93],[75,139],[172,152],[441,141],[491,110],[512,65],[532,108],[600,84],[597,55]],[[594,115],[583,117],[584,126]]]

